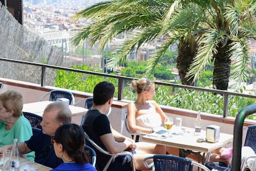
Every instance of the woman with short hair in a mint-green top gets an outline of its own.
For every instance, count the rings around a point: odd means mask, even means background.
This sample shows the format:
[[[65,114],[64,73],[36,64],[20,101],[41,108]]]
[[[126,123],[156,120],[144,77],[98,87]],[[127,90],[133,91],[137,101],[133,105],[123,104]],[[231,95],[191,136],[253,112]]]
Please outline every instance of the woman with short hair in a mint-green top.
[[[27,141],[32,136],[30,122],[22,115],[22,94],[9,90],[0,94],[0,147]],[[34,160],[34,152],[27,154],[27,159]]]

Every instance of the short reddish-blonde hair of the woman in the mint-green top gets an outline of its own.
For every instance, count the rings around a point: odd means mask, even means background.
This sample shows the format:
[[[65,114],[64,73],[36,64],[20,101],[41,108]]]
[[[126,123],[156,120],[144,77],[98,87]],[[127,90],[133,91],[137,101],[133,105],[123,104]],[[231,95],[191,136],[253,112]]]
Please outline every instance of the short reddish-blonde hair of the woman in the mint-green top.
[[[9,112],[11,109],[14,110],[14,117],[20,117],[22,115],[23,98],[22,94],[17,91],[9,90],[0,94],[0,101],[2,106]]]

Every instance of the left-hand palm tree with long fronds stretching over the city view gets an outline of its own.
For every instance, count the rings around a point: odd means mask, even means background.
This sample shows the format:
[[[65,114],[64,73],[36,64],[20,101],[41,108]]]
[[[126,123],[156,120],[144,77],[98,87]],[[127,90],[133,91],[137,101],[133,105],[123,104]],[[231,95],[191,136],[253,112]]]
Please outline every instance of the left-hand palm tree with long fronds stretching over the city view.
[[[178,40],[177,68],[182,84],[195,85],[193,79],[188,80],[186,73],[197,52],[197,41],[195,41],[197,36],[192,36],[192,31],[184,29],[184,27],[170,35],[171,31],[179,29],[176,25],[163,31],[163,24],[166,23],[163,22],[163,19],[166,19],[165,16],[170,17],[175,9],[182,7],[182,3],[187,2],[131,0],[100,2],[74,15],[75,19],[82,18],[93,20],[93,22],[83,28],[74,37],[73,42],[79,44],[89,38],[92,46],[99,43],[100,50],[103,51],[108,41],[114,36],[126,33],[127,40],[108,59],[108,67],[116,69],[117,65],[126,62],[127,55],[134,49],[139,49],[143,43],[152,43],[156,39],[164,37],[168,42],[163,44],[163,51],[158,52],[158,56],[149,60],[148,72],[150,73],[166,49]],[[184,12],[186,13],[186,11]],[[190,16],[187,15],[187,17]]]

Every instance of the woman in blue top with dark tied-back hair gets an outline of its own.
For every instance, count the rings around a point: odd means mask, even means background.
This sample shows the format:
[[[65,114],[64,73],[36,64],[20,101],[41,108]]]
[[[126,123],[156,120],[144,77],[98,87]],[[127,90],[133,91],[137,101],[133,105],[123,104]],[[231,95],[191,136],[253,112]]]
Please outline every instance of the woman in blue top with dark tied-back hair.
[[[85,135],[82,128],[74,123],[65,123],[56,130],[52,137],[54,151],[57,157],[64,162],[53,169],[59,170],[86,170],[96,171],[89,163],[90,159],[83,150],[85,146]]]

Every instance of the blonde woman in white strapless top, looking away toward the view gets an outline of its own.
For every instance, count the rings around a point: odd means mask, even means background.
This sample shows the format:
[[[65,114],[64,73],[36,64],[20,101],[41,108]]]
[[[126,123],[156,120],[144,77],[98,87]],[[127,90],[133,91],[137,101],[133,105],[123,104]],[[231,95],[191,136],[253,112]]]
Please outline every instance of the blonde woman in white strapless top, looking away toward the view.
[[[131,132],[153,133],[161,127],[167,117],[160,106],[153,101],[155,83],[147,78],[132,80],[132,88],[137,93],[137,99],[128,105],[127,123]],[[179,149],[148,143],[148,150],[161,154],[165,149],[169,154],[179,155]]]

